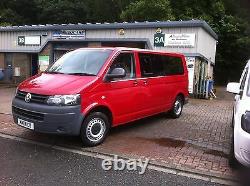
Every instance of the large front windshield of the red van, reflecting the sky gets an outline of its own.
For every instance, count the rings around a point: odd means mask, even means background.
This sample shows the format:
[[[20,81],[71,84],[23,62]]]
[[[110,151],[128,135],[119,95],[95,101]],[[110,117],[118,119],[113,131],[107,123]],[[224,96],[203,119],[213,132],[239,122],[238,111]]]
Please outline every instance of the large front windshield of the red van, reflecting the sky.
[[[111,52],[110,49],[75,50],[63,55],[46,72],[96,76]]]

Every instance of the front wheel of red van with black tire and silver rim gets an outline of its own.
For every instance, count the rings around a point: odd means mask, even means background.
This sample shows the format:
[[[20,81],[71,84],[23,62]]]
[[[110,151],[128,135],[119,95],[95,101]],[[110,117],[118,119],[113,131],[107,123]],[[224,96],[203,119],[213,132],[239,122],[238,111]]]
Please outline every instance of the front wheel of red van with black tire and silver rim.
[[[102,112],[90,113],[81,126],[81,139],[84,146],[101,144],[110,130],[110,121]]]

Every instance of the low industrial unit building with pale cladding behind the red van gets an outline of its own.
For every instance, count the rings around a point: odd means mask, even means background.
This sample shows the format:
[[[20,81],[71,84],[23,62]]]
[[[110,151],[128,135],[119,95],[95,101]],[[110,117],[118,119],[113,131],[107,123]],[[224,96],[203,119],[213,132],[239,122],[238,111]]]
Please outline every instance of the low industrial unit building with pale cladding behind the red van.
[[[204,97],[205,79],[213,76],[217,39],[201,20],[0,27],[0,70],[4,72],[0,82],[18,83],[77,48],[124,46],[183,53],[189,92]]]

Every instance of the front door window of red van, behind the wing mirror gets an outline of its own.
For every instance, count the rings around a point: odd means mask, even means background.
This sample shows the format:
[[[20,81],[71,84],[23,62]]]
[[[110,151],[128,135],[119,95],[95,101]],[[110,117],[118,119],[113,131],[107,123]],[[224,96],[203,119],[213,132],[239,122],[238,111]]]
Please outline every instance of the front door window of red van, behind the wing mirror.
[[[109,72],[115,68],[123,68],[126,72],[126,77],[119,79],[133,79],[135,78],[135,59],[133,53],[121,53],[113,61]],[[115,79],[115,80],[119,80]]]

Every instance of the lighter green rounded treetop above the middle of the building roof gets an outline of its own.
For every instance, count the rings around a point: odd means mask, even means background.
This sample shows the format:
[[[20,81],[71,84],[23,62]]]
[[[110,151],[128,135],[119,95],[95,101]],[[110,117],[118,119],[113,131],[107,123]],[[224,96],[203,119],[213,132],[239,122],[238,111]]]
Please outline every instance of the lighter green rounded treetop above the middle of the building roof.
[[[139,0],[132,2],[122,11],[120,17],[124,21],[163,21],[174,19],[169,0]]]

